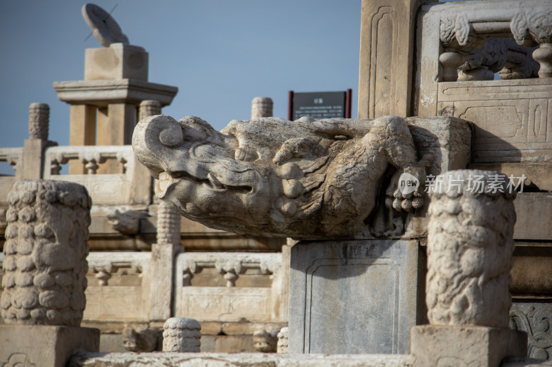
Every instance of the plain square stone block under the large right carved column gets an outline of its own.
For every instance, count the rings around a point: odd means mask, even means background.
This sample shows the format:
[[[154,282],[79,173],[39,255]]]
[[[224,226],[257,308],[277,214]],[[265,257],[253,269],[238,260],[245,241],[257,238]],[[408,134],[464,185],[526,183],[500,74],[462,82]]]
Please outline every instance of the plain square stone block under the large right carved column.
[[[411,343],[415,367],[498,367],[527,353],[526,333],[484,326],[414,326]]]

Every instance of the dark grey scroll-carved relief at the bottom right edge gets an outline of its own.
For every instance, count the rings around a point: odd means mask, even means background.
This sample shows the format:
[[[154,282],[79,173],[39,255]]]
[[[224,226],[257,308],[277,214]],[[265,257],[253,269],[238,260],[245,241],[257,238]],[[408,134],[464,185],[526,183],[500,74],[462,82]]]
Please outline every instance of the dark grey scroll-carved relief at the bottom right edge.
[[[527,356],[552,358],[552,305],[515,303],[510,310],[510,328],[529,337]]]

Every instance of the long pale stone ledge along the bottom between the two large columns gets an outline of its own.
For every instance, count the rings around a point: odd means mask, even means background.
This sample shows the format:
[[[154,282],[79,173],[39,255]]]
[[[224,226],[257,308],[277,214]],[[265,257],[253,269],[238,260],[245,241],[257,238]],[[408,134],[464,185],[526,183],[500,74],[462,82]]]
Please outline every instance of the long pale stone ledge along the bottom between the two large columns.
[[[408,355],[287,355],[276,353],[76,353],[68,367],[411,367]]]

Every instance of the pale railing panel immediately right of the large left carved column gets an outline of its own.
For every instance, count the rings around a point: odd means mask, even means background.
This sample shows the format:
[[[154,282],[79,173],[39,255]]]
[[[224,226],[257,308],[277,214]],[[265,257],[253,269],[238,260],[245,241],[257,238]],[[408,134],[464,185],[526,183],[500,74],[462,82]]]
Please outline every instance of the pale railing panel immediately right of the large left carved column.
[[[147,321],[150,255],[149,252],[91,252],[84,319]]]

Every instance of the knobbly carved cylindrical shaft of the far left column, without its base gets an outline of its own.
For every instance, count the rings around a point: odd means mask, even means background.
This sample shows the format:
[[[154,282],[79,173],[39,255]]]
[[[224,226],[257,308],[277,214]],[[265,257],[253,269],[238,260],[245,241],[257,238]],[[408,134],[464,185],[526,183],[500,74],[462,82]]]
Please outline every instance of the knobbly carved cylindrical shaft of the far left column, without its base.
[[[92,200],[78,184],[21,180],[8,196],[1,317],[79,326],[86,305]]]

